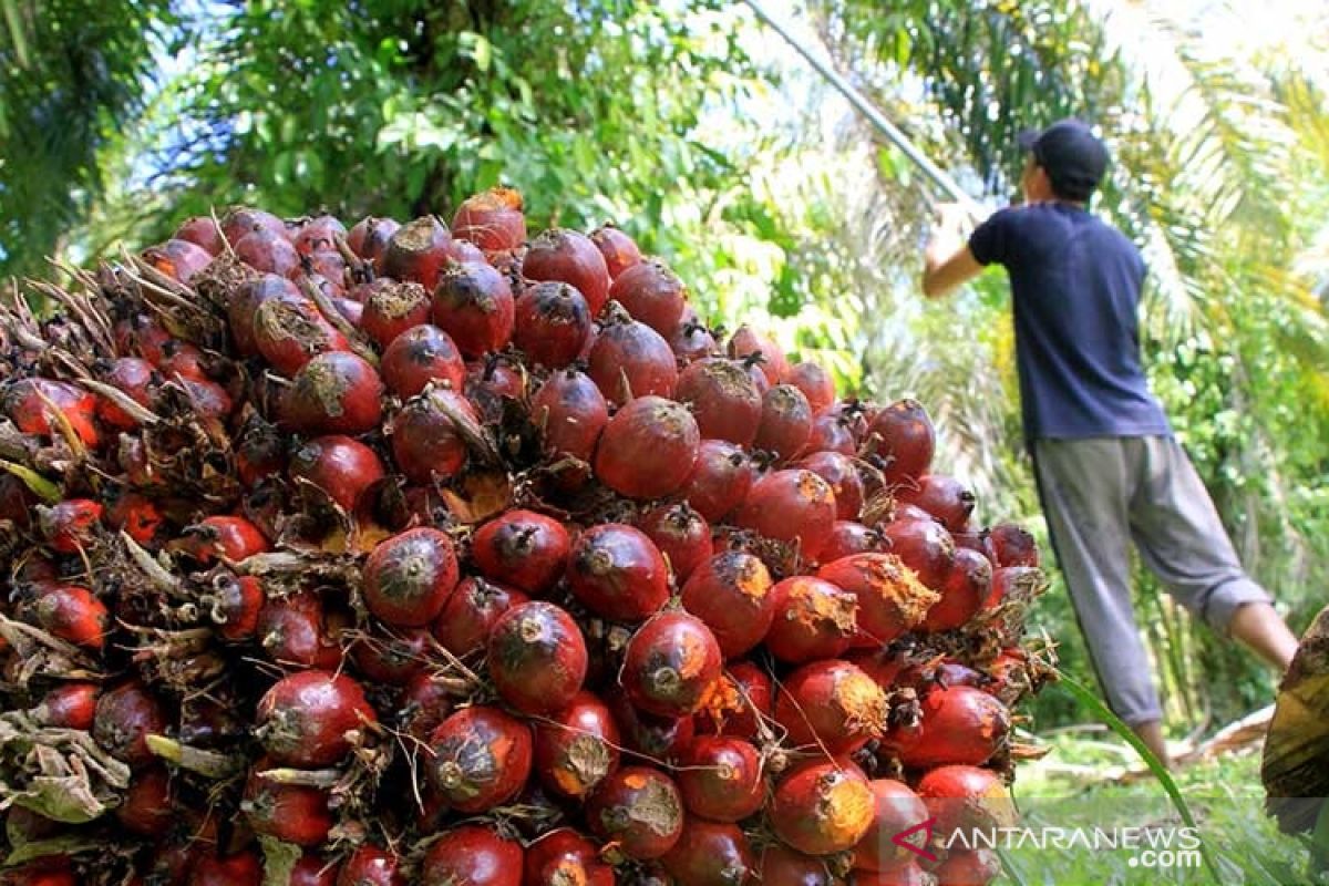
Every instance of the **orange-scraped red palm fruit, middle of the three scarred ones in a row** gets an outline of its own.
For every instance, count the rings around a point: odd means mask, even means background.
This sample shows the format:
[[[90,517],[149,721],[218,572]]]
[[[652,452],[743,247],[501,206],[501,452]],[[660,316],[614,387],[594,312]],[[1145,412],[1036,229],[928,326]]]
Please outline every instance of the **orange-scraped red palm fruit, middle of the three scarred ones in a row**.
[[[857,598],[831,582],[793,575],[771,588],[775,620],[766,648],[781,662],[835,659],[857,632]]]

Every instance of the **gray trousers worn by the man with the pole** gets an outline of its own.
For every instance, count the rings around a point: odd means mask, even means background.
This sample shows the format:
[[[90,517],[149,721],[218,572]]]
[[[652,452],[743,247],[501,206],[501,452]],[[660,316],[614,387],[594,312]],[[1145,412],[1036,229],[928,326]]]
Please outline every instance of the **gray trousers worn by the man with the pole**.
[[[1239,606],[1272,598],[1241,569],[1172,437],[1035,440],[1030,449],[1053,549],[1108,705],[1132,727],[1159,720],[1131,606],[1130,543],[1174,599],[1223,635]]]

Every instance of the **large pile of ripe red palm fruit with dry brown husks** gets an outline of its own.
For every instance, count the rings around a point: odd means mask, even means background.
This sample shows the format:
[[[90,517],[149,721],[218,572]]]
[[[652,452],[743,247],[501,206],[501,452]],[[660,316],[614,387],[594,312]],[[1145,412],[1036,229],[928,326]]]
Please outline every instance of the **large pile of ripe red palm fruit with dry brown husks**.
[[[0,883],[998,873],[1042,574],[920,404],[506,189],[64,272],[0,299]]]

